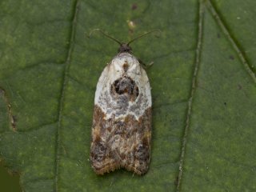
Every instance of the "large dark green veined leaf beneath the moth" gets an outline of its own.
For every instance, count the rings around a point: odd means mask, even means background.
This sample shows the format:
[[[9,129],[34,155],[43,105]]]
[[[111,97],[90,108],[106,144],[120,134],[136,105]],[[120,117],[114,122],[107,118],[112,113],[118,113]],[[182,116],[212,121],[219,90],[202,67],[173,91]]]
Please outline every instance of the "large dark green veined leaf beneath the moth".
[[[256,190],[256,2],[0,2],[0,158],[24,191]],[[132,25],[134,23],[135,26]],[[90,167],[94,91],[118,45],[154,61],[150,169]],[[0,181],[1,182],[1,181]]]

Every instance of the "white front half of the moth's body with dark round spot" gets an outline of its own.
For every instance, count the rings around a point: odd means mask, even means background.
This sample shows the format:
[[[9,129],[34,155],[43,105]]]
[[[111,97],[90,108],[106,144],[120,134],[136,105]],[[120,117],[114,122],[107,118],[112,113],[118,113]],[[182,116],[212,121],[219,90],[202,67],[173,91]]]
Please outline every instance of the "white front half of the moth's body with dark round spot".
[[[132,114],[138,120],[152,106],[150,92],[146,71],[137,58],[129,53],[121,53],[103,70],[98,80],[94,104],[106,114],[105,119],[124,119],[127,114]],[[129,98],[122,94],[132,96],[127,101]]]

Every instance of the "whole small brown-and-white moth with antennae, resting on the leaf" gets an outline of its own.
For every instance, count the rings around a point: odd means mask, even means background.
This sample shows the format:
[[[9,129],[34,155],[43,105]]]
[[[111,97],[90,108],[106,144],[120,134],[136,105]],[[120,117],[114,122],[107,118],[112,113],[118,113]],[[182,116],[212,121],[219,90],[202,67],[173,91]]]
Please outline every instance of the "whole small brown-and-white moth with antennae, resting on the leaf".
[[[119,168],[145,174],[150,163],[152,102],[149,78],[130,48],[137,38],[122,43],[99,31],[120,47],[98,80],[90,162],[96,174]]]

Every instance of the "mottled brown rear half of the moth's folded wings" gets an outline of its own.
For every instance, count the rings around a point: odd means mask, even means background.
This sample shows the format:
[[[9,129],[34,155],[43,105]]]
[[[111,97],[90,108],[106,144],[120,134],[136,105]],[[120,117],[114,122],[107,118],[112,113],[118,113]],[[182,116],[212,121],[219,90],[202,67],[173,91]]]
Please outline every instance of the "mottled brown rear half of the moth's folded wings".
[[[96,174],[120,167],[145,174],[150,163],[151,108],[138,119],[104,119],[99,106],[94,106],[94,124],[90,161]]]

